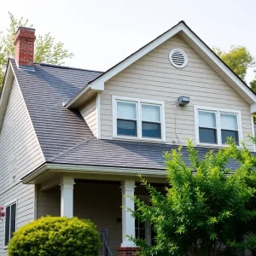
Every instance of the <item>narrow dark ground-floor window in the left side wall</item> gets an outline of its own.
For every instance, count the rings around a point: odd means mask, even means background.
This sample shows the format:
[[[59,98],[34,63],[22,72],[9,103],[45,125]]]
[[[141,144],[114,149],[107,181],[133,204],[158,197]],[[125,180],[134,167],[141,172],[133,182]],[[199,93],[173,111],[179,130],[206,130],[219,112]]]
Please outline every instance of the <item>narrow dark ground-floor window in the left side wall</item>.
[[[10,239],[16,231],[16,211],[17,201],[9,202],[5,205],[5,230],[4,230],[4,246],[7,247]]]

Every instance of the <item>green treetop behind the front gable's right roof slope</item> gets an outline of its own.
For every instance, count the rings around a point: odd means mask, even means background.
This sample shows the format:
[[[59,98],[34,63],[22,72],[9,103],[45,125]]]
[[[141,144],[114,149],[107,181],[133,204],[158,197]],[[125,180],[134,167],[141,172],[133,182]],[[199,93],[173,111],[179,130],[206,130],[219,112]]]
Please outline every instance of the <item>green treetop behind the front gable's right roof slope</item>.
[[[228,52],[215,47],[213,51],[243,80],[247,74],[247,68],[255,65],[253,55],[245,46],[233,45]]]

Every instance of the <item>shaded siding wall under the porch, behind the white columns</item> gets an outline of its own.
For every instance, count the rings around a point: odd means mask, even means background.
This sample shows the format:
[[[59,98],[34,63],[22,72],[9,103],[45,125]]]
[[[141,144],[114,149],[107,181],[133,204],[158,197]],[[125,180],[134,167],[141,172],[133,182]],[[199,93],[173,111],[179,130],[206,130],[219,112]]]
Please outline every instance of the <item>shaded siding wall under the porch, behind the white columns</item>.
[[[108,229],[109,246],[113,255],[122,239],[121,190],[119,184],[76,183],[73,190],[73,213],[79,218],[90,218],[98,230]],[[37,192],[38,218],[61,215],[61,189]]]

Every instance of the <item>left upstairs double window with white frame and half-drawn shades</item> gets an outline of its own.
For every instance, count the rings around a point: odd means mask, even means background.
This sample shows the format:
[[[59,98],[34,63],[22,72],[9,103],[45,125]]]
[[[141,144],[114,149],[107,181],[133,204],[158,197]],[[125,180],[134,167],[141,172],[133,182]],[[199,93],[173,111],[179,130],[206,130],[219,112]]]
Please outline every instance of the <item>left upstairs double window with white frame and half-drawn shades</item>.
[[[164,102],[113,96],[113,137],[164,141]]]

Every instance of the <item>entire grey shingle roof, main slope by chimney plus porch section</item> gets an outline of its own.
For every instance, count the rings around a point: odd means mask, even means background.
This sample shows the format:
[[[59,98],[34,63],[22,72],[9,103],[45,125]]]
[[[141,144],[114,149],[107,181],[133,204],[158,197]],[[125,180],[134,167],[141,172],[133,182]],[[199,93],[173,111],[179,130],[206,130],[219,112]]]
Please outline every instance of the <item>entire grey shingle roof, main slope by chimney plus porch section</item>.
[[[47,162],[165,169],[164,153],[177,146],[98,140],[78,110],[63,107],[64,102],[73,98],[101,72],[37,63],[32,72],[18,69],[15,61],[11,61]],[[209,149],[197,150],[202,158]],[[183,159],[189,164],[185,147]],[[237,166],[236,162],[230,162],[228,167],[234,169]]]

